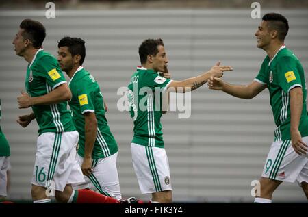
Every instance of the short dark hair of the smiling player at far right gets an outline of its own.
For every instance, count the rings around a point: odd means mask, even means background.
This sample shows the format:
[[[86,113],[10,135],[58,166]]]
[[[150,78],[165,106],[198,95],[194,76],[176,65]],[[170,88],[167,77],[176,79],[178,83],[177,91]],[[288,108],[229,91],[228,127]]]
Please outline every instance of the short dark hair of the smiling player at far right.
[[[285,18],[285,16],[277,13],[268,13],[263,16],[262,20],[268,22],[268,27],[270,29],[275,29],[278,31],[279,40],[285,40],[287,31],[289,31],[289,23],[287,22],[287,18]]]

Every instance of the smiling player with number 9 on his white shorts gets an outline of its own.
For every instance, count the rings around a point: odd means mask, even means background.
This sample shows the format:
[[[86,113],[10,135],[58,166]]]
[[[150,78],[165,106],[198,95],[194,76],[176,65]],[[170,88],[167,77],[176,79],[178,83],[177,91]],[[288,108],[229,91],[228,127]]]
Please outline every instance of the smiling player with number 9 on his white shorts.
[[[274,190],[283,182],[298,181],[308,199],[308,115],[305,73],[300,61],[284,44],[289,25],[281,14],[264,15],[255,36],[257,47],[268,54],[259,74],[246,86],[211,77],[209,88],[234,97],[251,99],[265,88],[277,128],[260,178],[261,195],[256,203],[271,203]]]

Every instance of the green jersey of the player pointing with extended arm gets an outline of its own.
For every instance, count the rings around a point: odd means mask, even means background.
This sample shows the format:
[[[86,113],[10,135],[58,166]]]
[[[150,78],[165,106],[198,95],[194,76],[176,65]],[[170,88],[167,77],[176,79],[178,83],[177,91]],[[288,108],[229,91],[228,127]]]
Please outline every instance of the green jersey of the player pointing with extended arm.
[[[133,118],[133,143],[164,148],[162,133],[162,92],[172,80],[138,66],[128,89],[129,112]]]

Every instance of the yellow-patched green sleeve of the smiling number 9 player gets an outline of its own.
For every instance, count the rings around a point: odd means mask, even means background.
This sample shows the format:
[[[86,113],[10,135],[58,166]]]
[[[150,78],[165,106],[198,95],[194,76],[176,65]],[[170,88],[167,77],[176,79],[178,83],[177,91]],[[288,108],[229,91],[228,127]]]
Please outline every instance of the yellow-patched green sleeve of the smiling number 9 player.
[[[297,62],[292,57],[282,57],[277,63],[279,85],[287,93],[296,86],[302,87]]]

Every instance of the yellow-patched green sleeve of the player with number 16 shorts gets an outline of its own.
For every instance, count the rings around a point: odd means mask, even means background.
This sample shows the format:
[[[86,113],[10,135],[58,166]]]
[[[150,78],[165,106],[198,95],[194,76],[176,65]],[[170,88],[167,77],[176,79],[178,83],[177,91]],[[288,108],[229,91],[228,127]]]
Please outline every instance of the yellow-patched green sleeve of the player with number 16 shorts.
[[[38,76],[44,77],[47,84],[51,86],[52,89],[57,88],[61,84],[66,83],[66,79],[62,73],[59,63],[55,58],[49,55],[45,55],[38,61]]]

